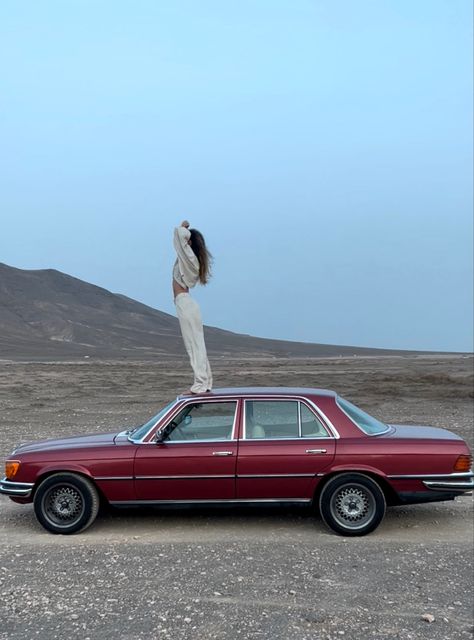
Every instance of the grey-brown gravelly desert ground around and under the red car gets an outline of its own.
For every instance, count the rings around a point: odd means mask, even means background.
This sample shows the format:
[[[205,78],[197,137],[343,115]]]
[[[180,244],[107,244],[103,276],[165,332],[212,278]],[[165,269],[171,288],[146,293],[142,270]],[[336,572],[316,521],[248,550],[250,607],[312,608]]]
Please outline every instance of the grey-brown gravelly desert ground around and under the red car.
[[[332,388],[473,445],[470,357],[212,364],[218,386]],[[142,423],[189,382],[185,361],[0,361],[0,455]],[[472,638],[472,512],[470,497],[392,508],[346,539],[307,509],[112,511],[59,537],[2,497],[0,638]]]

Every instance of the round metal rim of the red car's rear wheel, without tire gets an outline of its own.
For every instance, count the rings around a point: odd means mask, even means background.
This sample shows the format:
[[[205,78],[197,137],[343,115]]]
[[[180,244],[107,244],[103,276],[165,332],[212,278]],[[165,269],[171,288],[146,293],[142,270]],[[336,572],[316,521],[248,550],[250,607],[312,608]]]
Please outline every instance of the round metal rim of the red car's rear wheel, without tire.
[[[351,483],[334,493],[330,510],[334,520],[344,529],[362,529],[375,515],[375,498],[363,485]]]

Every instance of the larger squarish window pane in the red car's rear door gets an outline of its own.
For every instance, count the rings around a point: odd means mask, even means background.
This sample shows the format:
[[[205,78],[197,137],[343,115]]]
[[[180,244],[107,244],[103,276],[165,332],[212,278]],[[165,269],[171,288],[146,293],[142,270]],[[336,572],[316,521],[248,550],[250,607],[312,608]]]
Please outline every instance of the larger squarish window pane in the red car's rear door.
[[[245,437],[298,438],[298,402],[247,400],[245,402]]]

